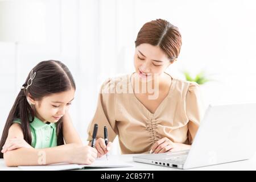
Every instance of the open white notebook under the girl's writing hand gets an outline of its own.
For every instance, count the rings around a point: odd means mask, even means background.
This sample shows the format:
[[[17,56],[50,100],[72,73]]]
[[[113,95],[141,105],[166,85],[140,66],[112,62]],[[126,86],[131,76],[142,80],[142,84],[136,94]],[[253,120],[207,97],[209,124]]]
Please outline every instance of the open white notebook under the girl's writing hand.
[[[19,166],[19,169],[23,171],[61,171],[61,170],[73,170],[73,169],[86,169],[86,168],[121,168],[121,167],[133,167],[129,163],[120,162],[114,159],[96,159],[91,165],[81,164],[68,164],[58,163],[44,166]]]

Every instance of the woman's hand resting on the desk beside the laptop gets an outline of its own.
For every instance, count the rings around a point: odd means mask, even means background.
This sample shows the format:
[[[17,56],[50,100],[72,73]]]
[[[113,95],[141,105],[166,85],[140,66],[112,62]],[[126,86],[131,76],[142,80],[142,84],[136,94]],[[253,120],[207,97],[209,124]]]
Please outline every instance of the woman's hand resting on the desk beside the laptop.
[[[150,153],[159,154],[164,152],[174,152],[174,151],[181,151],[181,150],[188,150],[191,148],[189,144],[183,143],[175,143],[172,142],[170,139],[164,137],[151,147]]]

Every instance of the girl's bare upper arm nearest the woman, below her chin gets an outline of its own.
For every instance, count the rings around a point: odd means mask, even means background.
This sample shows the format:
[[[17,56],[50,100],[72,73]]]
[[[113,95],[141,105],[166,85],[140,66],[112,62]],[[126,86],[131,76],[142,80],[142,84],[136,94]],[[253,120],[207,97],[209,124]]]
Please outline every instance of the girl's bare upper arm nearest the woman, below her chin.
[[[67,144],[76,143],[82,145],[82,140],[80,139],[79,134],[73,126],[71,117],[68,112],[63,116],[63,137],[65,143]]]

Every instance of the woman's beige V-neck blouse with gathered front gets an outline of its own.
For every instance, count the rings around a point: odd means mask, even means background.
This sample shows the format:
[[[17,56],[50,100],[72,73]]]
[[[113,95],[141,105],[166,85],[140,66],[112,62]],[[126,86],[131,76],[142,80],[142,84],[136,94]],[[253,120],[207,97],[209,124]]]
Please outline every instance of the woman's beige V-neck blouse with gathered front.
[[[104,138],[106,126],[109,141],[118,135],[122,154],[149,152],[163,137],[191,144],[201,113],[199,85],[195,82],[172,77],[167,97],[153,114],[135,96],[131,75],[116,77],[108,79],[101,87],[96,113],[88,127],[88,140],[92,140],[97,123],[97,138]]]

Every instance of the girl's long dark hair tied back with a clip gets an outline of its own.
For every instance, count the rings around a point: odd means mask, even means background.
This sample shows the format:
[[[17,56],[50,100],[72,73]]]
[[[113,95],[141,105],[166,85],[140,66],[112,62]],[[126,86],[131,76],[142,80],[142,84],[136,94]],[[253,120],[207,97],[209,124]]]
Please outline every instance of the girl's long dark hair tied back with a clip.
[[[37,64],[31,72],[36,72],[32,84],[26,89],[28,80],[30,79],[29,73],[25,83],[23,84],[24,89],[20,90],[6,120],[0,142],[1,150],[6,142],[9,129],[15,119],[20,119],[20,126],[23,131],[24,140],[26,140],[27,143],[31,144],[32,138],[30,131],[30,122],[34,121],[35,111],[32,109],[30,104],[28,104],[28,93],[30,94],[30,97],[32,99],[40,101],[43,97],[49,96],[50,94],[64,92],[72,88],[76,89],[75,81],[73,79],[73,76],[71,75],[71,72],[60,61],[42,61]],[[60,119],[56,123],[56,133],[57,145],[59,146],[61,144],[64,144],[62,119]],[[0,152],[0,158],[3,158],[2,152]]]

